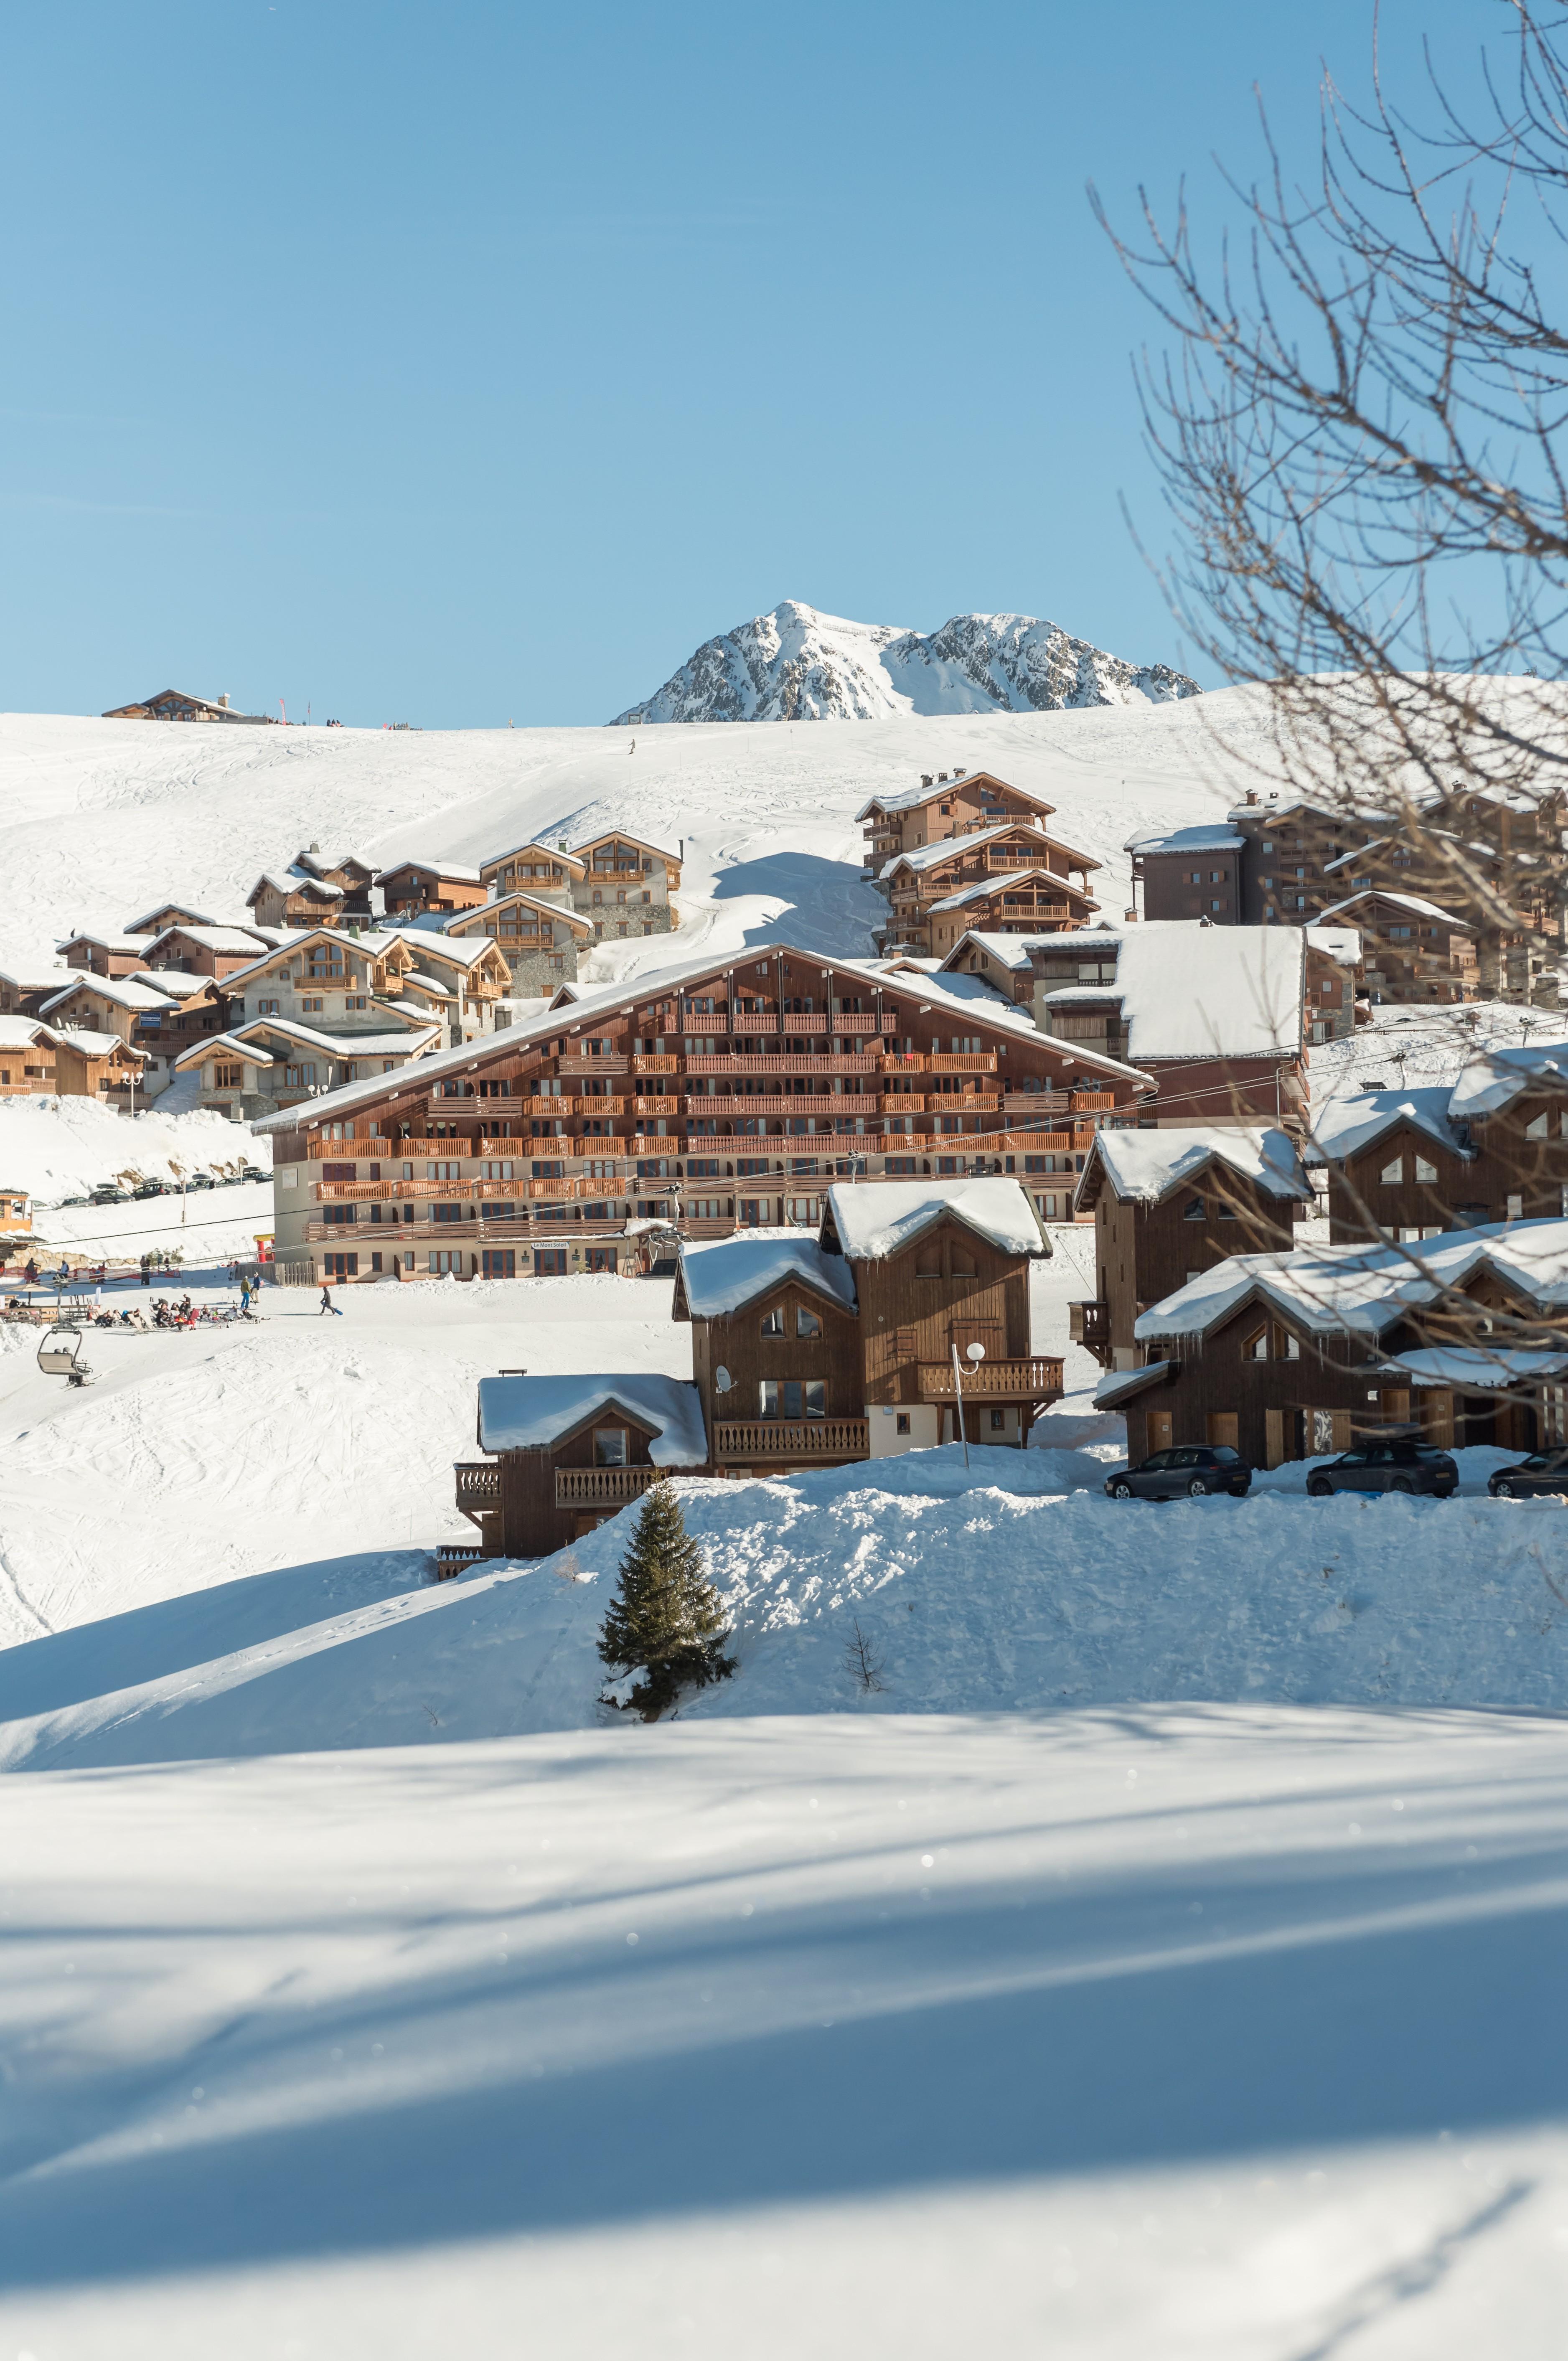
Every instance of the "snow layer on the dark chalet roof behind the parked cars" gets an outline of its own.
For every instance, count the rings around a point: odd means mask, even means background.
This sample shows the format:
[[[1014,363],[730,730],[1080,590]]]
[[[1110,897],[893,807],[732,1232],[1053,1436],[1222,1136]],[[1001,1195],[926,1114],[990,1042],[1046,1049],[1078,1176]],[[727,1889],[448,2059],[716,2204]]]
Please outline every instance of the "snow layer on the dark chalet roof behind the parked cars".
[[[1282,1320],[1318,1334],[1377,1336],[1407,1310],[1464,1287],[1478,1270],[1530,1296],[1542,1310],[1568,1306],[1568,1221],[1490,1223],[1448,1230],[1415,1247],[1299,1247],[1289,1254],[1235,1254],[1152,1303],[1133,1336],[1202,1336],[1261,1296]]]

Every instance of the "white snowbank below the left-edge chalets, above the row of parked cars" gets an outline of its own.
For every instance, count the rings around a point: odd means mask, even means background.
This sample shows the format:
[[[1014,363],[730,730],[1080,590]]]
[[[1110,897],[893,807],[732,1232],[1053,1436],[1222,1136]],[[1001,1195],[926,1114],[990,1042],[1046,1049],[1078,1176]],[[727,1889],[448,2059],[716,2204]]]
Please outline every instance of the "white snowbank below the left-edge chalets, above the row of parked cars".
[[[85,1197],[87,1190],[123,1173],[144,1180],[172,1180],[175,1164],[187,1173],[222,1166],[272,1166],[267,1140],[250,1136],[246,1124],[198,1107],[191,1114],[125,1117],[99,1107],[94,1098],[7,1098],[0,1100],[0,1180],[24,1188],[38,1204],[61,1197]]]

